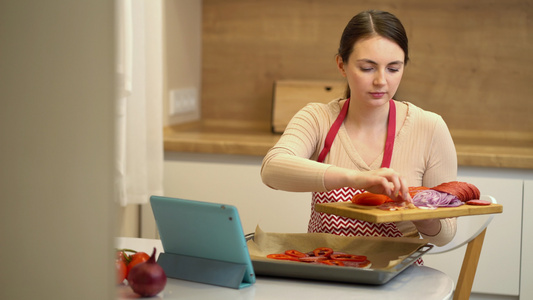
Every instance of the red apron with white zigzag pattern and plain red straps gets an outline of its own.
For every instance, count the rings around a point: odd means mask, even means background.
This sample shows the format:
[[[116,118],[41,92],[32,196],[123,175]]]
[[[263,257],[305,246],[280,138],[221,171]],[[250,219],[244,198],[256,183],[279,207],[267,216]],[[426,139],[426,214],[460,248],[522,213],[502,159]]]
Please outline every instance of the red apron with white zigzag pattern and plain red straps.
[[[326,155],[331,149],[333,140],[339,131],[339,128],[348,113],[350,99],[347,99],[342,106],[339,116],[331,126],[326,140],[324,149],[320,152],[317,161],[324,162]],[[387,127],[387,140],[385,142],[385,151],[383,154],[382,168],[389,168],[394,148],[394,137],[396,135],[396,105],[394,100],[389,101],[389,120]],[[315,211],[315,204],[345,202],[351,201],[352,197],[360,194],[364,190],[354,188],[341,188],[329,192],[313,192],[311,203],[311,219],[309,220],[308,232],[325,232],[342,236],[384,236],[384,237],[402,237],[403,234],[398,230],[395,223],[370,223],[361,220],[355,220],[336,216],[333,214],[319,213]],[[416,264],[422,265],[422,260],[417,260]]]

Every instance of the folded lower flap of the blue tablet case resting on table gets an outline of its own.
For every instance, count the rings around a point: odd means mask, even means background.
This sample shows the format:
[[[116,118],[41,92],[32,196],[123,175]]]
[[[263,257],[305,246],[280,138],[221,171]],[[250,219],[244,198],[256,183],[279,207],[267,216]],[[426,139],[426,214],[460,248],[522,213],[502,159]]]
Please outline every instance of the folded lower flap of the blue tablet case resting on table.
[[[173,253],[160,253],[157,263],[167,277],[240,289],[246,265]]]

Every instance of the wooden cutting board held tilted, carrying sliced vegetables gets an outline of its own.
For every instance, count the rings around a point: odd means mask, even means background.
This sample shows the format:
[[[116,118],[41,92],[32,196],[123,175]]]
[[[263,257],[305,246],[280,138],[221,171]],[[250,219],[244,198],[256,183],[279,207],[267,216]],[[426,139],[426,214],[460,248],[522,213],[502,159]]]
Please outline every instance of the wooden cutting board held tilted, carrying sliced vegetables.
[[[451,218],[460,216],[473,216],[483,214],[497,214],[503,212],[501,204],[486,206],[462,205],[459,207],[439,207],[437,209],[404,209],[387,211],[375,206],[361,206],[351,202],[336,202],[316,204],[315,210],[328,214],[334,214],[351,219],[358,219],[372,223],[387,223],[399,221],[414,221],[425,219]]]

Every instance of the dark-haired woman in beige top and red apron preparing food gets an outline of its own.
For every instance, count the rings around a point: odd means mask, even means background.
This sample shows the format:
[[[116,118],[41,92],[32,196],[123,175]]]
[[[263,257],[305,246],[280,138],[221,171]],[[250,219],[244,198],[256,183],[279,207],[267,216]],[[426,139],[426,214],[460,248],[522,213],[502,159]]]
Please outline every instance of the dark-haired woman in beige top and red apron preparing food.
[[[316,203],[349,201],[364,190],[411,201],[410,186],[456,180],[457,156],[443,119],[392,100],[408,62],[407,44],[394,15],[371,10],[353,17],[336,56],[348,83],[345,98],[308,104],[265,156],[266,185],[312,192],[309,232],[421,235],[438,246],[455,235],[454,218],[373,224],[314,210]]]

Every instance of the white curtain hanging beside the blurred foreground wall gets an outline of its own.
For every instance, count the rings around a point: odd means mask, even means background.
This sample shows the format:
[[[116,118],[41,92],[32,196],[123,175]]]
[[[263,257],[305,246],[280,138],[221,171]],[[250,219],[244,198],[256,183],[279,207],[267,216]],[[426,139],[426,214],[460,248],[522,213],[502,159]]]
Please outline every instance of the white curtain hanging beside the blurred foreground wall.
[[[115,1],[115,171],[117,199],[126,206],[163,194],[162,46],[161,32],[152,32],[153,20],[147,21],[145,5],[150,1]]]

